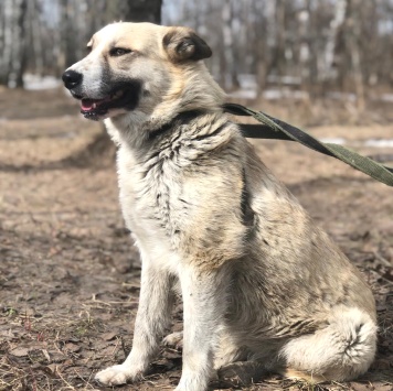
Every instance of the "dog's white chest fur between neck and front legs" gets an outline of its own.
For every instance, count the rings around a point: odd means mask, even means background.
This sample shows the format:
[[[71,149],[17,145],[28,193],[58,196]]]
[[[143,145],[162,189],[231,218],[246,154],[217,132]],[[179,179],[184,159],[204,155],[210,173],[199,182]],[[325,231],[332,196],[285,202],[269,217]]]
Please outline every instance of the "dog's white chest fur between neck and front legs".
[[[131,151],[120,149],[118,180],[123,215],[138,246],[150,253],[176,251],[189,211],[181,202],[182,170],[172,160],[137,162]]]

